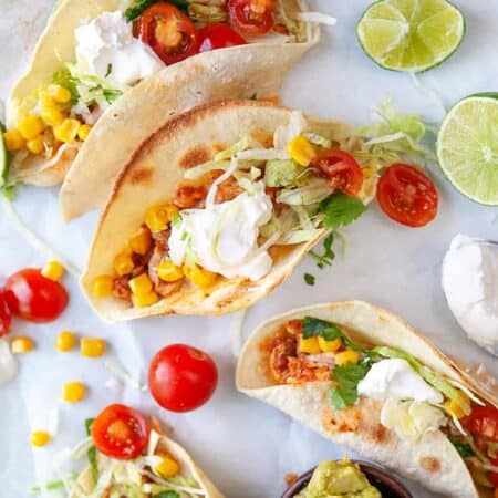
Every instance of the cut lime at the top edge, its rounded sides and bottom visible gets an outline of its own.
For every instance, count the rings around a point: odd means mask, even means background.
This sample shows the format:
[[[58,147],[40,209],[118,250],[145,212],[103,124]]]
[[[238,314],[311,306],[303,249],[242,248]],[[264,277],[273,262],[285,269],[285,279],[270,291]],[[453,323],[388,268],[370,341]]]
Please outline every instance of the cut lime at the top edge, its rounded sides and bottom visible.
[[[393,71],[427,71],[446,60],[465,34],[463,13],[446,0],[380,0],[356,27],[365,53]]]

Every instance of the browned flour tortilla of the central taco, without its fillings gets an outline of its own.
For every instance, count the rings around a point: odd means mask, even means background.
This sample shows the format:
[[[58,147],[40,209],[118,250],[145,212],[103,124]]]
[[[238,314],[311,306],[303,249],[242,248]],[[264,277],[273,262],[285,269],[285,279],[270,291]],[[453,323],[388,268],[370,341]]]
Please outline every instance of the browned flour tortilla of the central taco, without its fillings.
[[[186,283],[177,293],[153,307],[133,308],[124,301],[95,298],[92,293],[96,277],[113,273],[115,256],[141,227],[147,208],[173,200],[185,167],[211,159],[217,147],[228,147],[247,134],[262,142],[272,141],[276,128],[287,125],[290,115],[290,110],[268,102],[207,104],[168,120],[142,145],[116,181],[81,278],[84,294],[104,320],[114,322],[173,313],[229,313],[264,298],[291,274],[307,251],[326,235],[325,230],[305,243],[271,248],[272,270],[259,281],[222,280],[209,295]],[[308,125],[310,131],[329,137],[349,131],[342,123],[312,117],[308,118]]]

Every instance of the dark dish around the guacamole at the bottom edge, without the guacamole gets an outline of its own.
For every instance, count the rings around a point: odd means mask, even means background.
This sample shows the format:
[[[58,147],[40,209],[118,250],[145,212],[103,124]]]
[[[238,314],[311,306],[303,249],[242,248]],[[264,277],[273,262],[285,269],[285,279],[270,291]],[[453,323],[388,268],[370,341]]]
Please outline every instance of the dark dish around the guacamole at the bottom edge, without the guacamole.
[[[360,464],[360,468],[370,484],[381,491],[382,498],[413,498],[413,495],[388,470],[364,461],[355,463]],[[298,477],[282,495],[282,498],[293,498],[298,492],[302,491],[310,481],[313,470],[314,468]]]

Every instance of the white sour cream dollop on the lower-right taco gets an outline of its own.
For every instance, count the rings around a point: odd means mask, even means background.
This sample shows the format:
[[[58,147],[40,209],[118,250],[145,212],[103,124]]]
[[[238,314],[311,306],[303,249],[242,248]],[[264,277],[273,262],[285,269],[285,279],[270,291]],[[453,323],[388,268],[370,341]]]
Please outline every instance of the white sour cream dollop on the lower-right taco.
[[[357,393],[377,401],[414,400],[442,403],[443,395],[430,387],[403,359],[374,363],[357,385]]]

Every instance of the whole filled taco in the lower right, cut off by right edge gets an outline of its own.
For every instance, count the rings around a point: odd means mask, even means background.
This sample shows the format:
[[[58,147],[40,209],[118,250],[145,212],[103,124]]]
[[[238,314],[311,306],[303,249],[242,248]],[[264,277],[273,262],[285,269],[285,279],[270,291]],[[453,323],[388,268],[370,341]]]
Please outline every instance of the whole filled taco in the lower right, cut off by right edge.
[[[271,319],[245,345],[236,382],[434,492],[498,487],[496,396],[387,311],[352,301]]]

